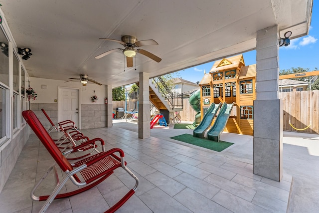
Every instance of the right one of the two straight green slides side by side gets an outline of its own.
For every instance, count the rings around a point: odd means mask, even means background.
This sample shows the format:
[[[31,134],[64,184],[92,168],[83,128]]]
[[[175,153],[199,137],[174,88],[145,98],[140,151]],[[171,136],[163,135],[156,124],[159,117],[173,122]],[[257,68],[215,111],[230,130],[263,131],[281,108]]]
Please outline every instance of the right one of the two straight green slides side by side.
[[[233,102],[232,104],[226,104],[226,102],[223,103],[213,126],[207,132],[208,140],[219,142],[220,135],[225,129],[225,126],[227,124],[228,118],[230,116],[234,104],[235,102]]]

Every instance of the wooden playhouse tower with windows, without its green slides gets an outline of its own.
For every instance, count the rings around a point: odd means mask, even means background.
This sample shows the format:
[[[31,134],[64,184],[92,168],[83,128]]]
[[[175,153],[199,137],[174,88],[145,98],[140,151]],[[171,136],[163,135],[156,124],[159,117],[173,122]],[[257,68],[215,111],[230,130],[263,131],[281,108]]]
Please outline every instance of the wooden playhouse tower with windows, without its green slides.
[[[253,135],[256,64],[245,66],[242,54],[215,61],[199,86],[201,119],[211,103],[235,102],[224,131]]]

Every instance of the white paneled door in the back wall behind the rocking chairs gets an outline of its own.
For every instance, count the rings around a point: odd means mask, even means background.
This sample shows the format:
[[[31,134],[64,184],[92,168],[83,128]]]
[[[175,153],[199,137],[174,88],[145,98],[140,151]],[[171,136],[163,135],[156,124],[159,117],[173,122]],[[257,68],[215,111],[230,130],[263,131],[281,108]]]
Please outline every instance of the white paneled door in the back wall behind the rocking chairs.
[[[79,127],[79,89],[59,88],[58,122],[71,120]]]

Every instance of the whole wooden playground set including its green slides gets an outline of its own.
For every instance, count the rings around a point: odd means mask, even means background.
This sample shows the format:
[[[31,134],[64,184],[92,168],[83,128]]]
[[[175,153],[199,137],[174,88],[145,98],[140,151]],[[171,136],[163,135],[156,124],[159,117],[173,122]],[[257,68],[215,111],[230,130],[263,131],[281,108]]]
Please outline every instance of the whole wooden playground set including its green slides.
[[[256,64],[246,66],[242,54],[216,61],[189,98],[197,112],[193,136],[204,138],[209,127],[207,139],[213,141],[223,131],[253,135],[255,82]]]

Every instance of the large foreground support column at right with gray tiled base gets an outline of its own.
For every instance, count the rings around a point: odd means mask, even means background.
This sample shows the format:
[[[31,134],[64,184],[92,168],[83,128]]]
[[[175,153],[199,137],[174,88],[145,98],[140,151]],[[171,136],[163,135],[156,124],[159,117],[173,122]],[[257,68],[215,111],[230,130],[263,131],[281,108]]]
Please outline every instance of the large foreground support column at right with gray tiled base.
[[[283,109],[279,99],[278,26],[257,32],[254,174],[282,178]]]

